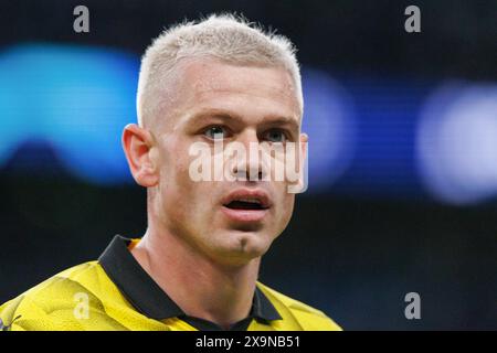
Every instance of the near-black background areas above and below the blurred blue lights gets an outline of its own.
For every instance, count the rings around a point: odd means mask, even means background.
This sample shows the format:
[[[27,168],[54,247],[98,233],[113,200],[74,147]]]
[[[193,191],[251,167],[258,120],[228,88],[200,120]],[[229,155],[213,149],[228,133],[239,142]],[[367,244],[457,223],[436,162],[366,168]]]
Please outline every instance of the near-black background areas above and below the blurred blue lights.
[[[72,30],[77,4],[89,8],[89,33]],[[421,33],[403,30],[409,4],[421,8]],[[50,42],[138,56],[168,24],[218,11],[278,29],[303,66],[347,77],[497,79],[495,1],[0,1],[0,49]],[[42,168],[32,168],[33,156]],[[447,204],[420,184],[383,182],[378,191],[346,172],[297,196],[261,280],[346,330],[496,330],[496,197]],[[114,234],[136,237],[146,228],[145,190],[82,181],[36,141],[0,169],[0,302],[95,259]],[[404,317],[411,291],[421,296],[421,320]]]

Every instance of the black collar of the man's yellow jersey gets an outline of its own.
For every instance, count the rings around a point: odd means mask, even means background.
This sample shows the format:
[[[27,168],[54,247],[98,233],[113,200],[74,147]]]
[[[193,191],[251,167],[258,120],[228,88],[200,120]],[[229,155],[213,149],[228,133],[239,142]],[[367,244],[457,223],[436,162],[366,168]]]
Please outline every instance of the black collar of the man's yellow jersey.
[[[131,240],[116,235],[98,258],[107,276],[126,299],[148,318],[163,320],[187,314],[145,271],[128,249]],[[266,321],[281,320],[269,299],[256,287],[250,317]]]

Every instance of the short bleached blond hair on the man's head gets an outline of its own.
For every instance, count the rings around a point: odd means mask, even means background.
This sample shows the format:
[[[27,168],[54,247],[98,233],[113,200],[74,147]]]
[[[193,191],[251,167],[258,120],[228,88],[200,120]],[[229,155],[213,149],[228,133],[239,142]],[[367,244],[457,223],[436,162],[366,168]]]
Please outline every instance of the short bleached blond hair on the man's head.
[[[163,83],[182,58],[213,57],[240,65],[279,66],[292,75],[300,114],[304,99],[300,69],[294,44],[274,32],[230,13],[211,14],[199,22],[183,22],[171,26],[147,47],[138,79],[138,124],[155,111],[154,92]]]

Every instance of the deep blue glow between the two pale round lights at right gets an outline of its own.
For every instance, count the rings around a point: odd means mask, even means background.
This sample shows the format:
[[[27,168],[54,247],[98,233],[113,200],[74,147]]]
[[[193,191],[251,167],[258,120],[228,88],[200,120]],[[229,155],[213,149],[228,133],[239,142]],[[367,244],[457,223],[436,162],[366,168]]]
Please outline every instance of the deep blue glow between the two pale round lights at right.
[[[419,197],[415,126],[433,83],[388,75],[340,75],[357,116],[355,159],[335,192],[378,197]]]

